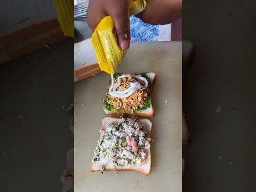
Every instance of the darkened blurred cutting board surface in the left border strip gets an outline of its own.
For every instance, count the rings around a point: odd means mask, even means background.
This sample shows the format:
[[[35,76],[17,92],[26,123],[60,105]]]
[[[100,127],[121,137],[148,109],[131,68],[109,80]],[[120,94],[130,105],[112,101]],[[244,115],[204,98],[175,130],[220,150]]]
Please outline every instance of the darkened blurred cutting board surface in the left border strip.
[[[74,146],[73,40],[0,65],[1,191],[60,191]],[[29,160],[30,159],[30,160]]]

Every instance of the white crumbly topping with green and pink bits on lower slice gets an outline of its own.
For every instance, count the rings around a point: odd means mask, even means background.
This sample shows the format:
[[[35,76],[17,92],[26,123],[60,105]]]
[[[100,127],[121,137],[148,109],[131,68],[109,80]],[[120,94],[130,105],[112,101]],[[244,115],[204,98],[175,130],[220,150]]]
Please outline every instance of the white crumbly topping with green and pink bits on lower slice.
[[[146,159],[145,149],[150,148],[143,125],[129,118],[108,124],[97,142],[93,161],[114,166],[139,165]]]

